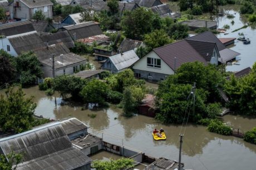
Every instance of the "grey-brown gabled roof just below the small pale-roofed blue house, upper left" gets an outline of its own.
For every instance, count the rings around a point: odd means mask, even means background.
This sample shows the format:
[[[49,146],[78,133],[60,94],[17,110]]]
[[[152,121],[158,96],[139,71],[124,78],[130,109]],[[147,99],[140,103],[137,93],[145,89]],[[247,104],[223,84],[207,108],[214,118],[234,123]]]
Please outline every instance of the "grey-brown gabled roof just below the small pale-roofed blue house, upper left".
[[[74,37],[74,33],[76,33],[76,39],[82,39],[103,34],[99,27],[99,23],[93,21],[75,24],[72,26],[66,26],[63,28],[66,29],[72,37]]]

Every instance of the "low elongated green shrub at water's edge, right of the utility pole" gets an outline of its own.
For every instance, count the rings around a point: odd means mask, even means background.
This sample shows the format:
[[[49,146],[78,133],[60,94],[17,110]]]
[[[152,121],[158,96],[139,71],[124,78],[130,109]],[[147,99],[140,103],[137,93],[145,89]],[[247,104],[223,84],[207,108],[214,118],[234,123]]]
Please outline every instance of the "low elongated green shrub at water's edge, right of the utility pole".
[[[223,134],[223,135],[230,135],[232,134],[232,128],[225,125],[225,124],[218,124],[216,122],[210,122],[208,125],[208,130],[210,132],[218,133],[218,134]]]

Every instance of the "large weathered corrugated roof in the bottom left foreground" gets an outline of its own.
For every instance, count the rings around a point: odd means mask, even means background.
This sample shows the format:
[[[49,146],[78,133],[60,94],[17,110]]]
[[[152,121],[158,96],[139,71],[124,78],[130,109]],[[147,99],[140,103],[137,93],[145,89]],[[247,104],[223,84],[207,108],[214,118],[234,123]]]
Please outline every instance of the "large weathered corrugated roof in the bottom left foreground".
[[[5,155],[22,153],[23,163],[17,170],[75,169],[91,162],[72,147],[60,122],[0,139],[0,146]]]

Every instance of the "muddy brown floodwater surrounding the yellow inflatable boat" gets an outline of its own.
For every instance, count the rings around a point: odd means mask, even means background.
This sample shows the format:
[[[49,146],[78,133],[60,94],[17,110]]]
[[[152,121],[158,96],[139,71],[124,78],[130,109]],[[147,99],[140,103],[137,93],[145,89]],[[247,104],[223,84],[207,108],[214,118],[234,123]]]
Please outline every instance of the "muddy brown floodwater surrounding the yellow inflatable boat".
[[[90,126],[89,132],[107,142],[124,144],[152,157],[166,157],[178,160],[179,132],[181,126],[163,125],[154,118],[138,115],[125,118],[121,109],[109,108],[84,110],[81,104],[64,102],[60,97],[47,97],[38,87],[23,89],[28,96],[35,96],[38,104],[36,114],[52,119],[76,117]],[[56,98],[56,99],[55,99]],[[96,118],[88,114],[96,114]],[[224,116],[224,121],[234,128],[248,131],[256,124],[256,118]],[[152,129],[165,129],[166,141],[154,141]],[[103,153],[104,154],[104,153]],[[107,157],[105,154],[101,157]],[[183,142],[183,157],[186,168],[191,169],[255,169],[256,146],[232,136],[210,133],[204,126],[189,124]],[[100,158],[97,158],[100,159]],[[105,158],[104,158],[105,159]]]

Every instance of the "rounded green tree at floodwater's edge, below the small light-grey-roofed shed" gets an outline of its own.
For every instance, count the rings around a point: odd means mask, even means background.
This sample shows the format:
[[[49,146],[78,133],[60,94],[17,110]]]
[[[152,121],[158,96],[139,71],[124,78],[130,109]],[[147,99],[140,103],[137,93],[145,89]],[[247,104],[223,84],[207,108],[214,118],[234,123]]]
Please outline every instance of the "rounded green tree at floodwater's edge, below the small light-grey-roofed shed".
[[[92,79],[92,81],[88,82],[86,86],[83,87],[81,95],[83,97],[83,101],[86,103],[95,103],[102,106],[105,104],[105,98],[108,90],[109,87],[105,82]]]

